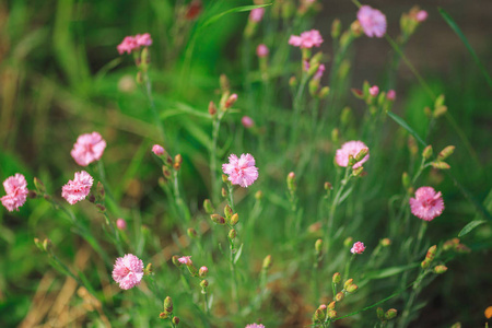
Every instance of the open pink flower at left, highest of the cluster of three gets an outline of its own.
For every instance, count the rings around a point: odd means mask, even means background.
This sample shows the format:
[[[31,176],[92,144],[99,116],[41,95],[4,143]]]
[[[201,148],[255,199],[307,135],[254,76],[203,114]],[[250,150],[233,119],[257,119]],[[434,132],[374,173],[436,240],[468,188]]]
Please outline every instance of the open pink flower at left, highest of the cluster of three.
[[[97,132],[85,133],[77,138],[70,152],[77,164],[87,166],[94,161],[101,160],[106,148],[106,141]]]

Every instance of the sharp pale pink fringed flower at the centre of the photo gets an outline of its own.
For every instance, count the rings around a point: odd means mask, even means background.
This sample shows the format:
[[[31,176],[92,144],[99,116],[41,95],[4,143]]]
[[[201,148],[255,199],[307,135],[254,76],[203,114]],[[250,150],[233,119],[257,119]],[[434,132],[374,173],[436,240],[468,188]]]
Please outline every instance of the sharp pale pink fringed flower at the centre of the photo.
[[[250,154],[242,154],[239,159],[235,154],[229,156],[229,163],[222,164],[222,171],[229,175],[233,185],[247,188],[258,178],[258,167]]]

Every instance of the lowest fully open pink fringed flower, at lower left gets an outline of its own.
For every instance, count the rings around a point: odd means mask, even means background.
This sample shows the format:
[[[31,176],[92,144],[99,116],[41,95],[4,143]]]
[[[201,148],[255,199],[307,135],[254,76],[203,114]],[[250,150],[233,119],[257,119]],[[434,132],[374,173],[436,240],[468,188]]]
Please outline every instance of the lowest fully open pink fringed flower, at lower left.
[[[122,290],[129,290],[140,283],[143,278],[143,262],[137,256],[127,254],[118,257],[113,269],[113,279]]]

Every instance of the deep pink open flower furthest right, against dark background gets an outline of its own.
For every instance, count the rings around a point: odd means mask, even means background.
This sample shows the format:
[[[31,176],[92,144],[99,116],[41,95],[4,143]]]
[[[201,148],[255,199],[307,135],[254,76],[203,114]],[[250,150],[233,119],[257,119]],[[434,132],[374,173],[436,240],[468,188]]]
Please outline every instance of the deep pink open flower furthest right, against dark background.
[[[432,221],[441,215],[444,210],[444,201],[441,191],[435,192],[432,187],[420,187],[415,191],[415,198],[410,198],[412,214]]]

